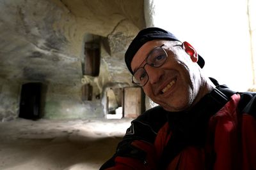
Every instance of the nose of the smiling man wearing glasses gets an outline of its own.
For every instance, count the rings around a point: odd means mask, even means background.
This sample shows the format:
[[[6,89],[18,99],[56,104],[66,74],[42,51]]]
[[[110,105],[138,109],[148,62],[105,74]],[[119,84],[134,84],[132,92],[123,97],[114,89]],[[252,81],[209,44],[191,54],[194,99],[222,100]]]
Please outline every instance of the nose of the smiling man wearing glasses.
[[[157,83],[163,76],[163,70],[157,67],[147,66],[148,81],[151,84]]]

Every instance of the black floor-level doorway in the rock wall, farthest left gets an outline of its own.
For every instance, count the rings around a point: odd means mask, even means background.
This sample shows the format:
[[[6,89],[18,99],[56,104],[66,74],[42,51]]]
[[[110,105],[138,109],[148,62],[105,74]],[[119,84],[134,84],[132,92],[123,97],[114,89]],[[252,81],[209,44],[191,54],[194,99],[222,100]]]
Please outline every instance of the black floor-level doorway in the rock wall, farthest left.
[[[22,85],[20,94],[20,118],[31,120],[41,118],[41,94],[42,83],[26,83]]]

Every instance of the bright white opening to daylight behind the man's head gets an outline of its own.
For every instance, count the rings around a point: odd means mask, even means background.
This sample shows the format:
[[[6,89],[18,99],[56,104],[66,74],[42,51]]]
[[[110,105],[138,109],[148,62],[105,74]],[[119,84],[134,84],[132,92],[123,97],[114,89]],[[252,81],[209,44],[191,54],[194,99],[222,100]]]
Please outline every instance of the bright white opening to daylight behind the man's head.
[[[253,85],[245,0],[151,0],[153,22],[188,41],[205,60],[207,76],[238,91]]]

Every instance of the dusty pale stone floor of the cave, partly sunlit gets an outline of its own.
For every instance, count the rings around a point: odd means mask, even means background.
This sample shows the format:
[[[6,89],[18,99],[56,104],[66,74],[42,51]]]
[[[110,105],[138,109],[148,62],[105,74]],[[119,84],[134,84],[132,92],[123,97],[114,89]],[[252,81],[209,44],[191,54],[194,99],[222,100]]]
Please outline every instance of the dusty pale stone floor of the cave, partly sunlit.
[[[1,170],[99,169],[131,119],[25,120],[0,123]]]

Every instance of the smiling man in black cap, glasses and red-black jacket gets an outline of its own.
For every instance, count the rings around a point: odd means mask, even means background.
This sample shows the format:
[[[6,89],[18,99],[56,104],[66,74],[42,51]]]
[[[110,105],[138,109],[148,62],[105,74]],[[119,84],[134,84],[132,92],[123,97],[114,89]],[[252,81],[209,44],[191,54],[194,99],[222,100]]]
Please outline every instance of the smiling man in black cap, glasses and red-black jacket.
[[[132,82],[159,104],[131,122],[100,169],[256,169],[256,99],[204,75],[188,42],[143,29],[125,53]]]

